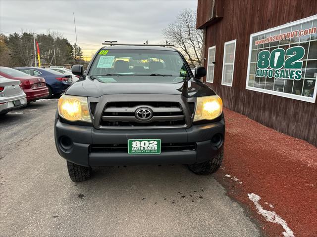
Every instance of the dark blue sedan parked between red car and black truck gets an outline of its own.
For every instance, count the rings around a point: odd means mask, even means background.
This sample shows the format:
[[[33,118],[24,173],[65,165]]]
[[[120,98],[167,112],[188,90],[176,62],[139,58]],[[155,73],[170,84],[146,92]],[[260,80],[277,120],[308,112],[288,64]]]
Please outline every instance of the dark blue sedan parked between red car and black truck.
[[[53,94],[60,95],[64,93],[66,89],[74,83],[71,74],[64,75],[48,68],[18,67],[15,69],[32,76],[43,77],[49,88],[48,98],[51,98]]]

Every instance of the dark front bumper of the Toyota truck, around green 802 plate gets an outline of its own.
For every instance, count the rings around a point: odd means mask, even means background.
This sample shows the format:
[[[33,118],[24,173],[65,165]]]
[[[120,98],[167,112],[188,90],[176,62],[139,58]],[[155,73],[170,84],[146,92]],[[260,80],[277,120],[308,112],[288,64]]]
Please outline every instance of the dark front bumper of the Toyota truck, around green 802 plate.
[[[55,119],[55,145],[60,156],[82,166],[113,166],[124,164],[193,164],[211,159],[223,151],[224,118],[218,122],[193,125],[184,129],[160,130],[98,130],[93,126],[62,123]],[[221,143],[213,146],[211,138],[222,137]],[[70,138],[72,144],[64,149],[61,138]],[[159,155],[128,155],[126,152],[95,152],[94,145],[127,144],[128,139],[161,139],[162,144],[195,144],[193,150],[161,151]]]

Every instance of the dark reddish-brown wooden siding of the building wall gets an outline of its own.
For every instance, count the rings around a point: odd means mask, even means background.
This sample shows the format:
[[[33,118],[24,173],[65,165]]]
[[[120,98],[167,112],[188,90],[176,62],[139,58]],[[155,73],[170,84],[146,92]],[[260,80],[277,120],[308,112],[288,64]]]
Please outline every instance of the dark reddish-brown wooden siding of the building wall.
[[[218,0],[216,0],[218,1]],[[209,4],[207,3],[209,2]],[[198,0],[197,26],[206,21],[211,1]],[[208,47],[216,45],[213,83],[224,106],[265,126],[317,146],[317,104],[246,90],[250,35],[317,13],[316,0],[222,0],[223,18],[206,28]],[[235,40],[232,87],[221,85],[224,42]],[[207,67],[207,60],[205,60]],[[206,81],[206,78],[204,79]]]

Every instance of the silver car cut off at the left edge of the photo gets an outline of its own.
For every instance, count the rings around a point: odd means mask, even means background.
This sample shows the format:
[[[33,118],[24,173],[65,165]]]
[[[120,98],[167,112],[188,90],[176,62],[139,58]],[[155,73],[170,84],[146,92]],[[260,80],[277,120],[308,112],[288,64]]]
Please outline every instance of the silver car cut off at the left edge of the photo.
[[[26,95],[20,83],[0,76],[0,115],[26,106]]]

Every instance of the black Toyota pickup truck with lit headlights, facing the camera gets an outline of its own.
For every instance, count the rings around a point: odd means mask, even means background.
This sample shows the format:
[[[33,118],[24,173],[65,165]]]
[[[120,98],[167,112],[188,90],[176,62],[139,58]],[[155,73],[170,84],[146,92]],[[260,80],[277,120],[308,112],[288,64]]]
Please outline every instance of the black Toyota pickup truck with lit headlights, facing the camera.
[[[92,166],[188,164],[215,172],[223,158],[222,101],[182,54],[158,46],[108,46],[58,101],[55,144],[74,182]]]

